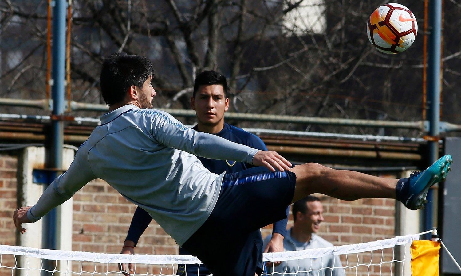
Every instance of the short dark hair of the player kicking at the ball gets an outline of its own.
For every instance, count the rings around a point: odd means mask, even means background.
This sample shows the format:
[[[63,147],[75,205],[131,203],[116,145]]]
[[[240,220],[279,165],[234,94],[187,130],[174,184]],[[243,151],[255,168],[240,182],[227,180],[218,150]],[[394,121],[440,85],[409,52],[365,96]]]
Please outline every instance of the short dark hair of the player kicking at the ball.
[[[154,77],[154,65],[147,57],[113,53],[102,63],[102,98],[107,105],[120,103],[130,86],[142,87],[149,76]]]

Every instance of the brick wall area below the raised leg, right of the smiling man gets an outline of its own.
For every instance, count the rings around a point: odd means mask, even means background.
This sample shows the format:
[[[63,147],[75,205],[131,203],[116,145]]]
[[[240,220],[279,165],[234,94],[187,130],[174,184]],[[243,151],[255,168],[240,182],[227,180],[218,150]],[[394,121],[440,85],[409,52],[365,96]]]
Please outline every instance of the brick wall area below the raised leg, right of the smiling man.
[[[325,222],[319,234],[333,245],[344,245],[371,242],[395,236],[395,200],[393,199],[361,199],[357,201],[341,201],[321,196],[324,202]],[[381,256],[382,255],[382,256]],[[357,264],[357,255],[340,256],[344,266]],[[373,257],[373,259],[371,259]],[[384,260],[392,260],[392,249],[377,250],[359,255],[360,264],[375,266],[359,266],[347,269],[347,275],[391,275],[390,265],[381,264]]]

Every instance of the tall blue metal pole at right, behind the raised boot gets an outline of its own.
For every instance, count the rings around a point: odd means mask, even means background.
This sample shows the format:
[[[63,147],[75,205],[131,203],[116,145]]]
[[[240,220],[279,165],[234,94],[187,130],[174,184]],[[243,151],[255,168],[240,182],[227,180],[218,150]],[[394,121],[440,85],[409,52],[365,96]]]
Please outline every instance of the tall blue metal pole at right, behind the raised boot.
[[[431,0],[429,6],[429,58],[427,64],[427,104],[429,105],[429,135],[438,137],[440,134],[440,53],[441,53],[441,32],[442,32],[442,0]],[[429,160],[432,164],[438,159],[438,139],[429,141]],[[433,202],[436,198],[434,189],[427,194],[427,206],[424,211],[424,230],[432,229],[434,226],[433,211],[437,205]]]

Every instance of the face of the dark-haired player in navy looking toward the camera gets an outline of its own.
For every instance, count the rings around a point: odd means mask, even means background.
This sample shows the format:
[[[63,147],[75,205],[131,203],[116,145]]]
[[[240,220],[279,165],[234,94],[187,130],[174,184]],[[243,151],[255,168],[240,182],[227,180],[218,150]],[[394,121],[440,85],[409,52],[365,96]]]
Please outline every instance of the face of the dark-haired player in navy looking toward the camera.
[[[200,123],[216,126],[224,121],[224,112],[229,109],[229,98],[225,98],[222,85],[202,85],[195,98],[190,99],[190,105]]]

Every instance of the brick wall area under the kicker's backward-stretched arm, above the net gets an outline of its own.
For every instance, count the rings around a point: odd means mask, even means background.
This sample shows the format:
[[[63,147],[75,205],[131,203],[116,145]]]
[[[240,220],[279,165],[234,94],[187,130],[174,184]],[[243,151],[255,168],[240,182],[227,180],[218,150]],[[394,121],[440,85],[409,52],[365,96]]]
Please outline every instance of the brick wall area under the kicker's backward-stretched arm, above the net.
[[[120,253],[136,205],[98,179],[74,195],[72,250]],[[176,242],[154,221],[142,235],[136,253],[177,254]]]

